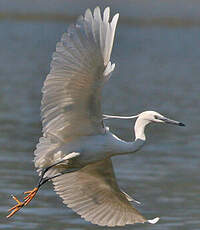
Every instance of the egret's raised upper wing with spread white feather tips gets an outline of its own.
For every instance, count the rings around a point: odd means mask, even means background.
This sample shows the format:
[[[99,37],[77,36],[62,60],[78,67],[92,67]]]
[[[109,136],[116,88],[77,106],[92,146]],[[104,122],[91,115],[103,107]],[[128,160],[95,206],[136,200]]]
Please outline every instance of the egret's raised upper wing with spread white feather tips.
[[[86,10],[57,43],[43,87],[41,115],[44,136],[61,140],[104,132],[101,90],[115,65],[110,55],[119,15],[109,22],[99,7]]]

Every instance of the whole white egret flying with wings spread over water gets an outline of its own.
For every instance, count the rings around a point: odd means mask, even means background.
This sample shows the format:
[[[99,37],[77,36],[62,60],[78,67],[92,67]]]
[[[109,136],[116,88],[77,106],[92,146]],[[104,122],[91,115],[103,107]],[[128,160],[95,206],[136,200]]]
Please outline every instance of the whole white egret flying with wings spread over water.
[[[39,184],[16,197],[8,218],[26,206],[42,184],[52,180],[63,202],[87,221],[101,226],[156,223],[147,220],[120,190],[111,157],[134,153],[145,143],[145,127],[151,122],[184,126],[163,115],[146,111],[137,116],[102,115],[102,87],[115,68],[110,56],[119,14],[110,21],[107,7],[103,17],[99,7],[86,10],[68,28],[53,54],[51,70],[42,89],[43,136],[35,150]],[[134,118],[135,140],[126,142],[111,133],[103,119]]]

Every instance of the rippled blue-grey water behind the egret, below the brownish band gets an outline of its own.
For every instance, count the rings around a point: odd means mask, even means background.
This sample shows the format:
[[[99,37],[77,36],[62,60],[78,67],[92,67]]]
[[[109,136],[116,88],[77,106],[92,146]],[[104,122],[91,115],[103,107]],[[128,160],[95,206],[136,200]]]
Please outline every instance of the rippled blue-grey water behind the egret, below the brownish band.
[[[82,13],[79,11],[78,13]],[[45,185],[31,205],[9,221],[10,194],[34,186],[33,150],[41,135],[41,87],[56,41],[68,24],[53,21],[0,21],[0,229],[100,230],[65,207]],[[185,128],[155,125],[146,146],[135,155],[116,157],[120,186],[142,205],[156,225],[113,229],[200,229],[200,28],[117,28],[112,60],[116,70],[104,90],[105,113],[156,110],[183,121]],[[133,124],[108,123],[125,140]]]

